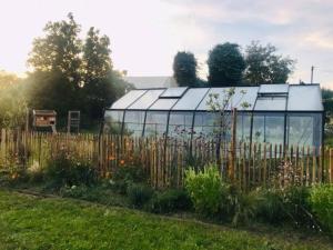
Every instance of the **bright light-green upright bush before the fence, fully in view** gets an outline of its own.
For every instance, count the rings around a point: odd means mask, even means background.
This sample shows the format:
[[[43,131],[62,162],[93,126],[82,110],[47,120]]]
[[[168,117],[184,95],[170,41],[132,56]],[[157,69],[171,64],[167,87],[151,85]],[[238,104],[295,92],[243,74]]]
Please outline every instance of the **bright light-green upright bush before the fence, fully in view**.
[[[214,216],[225,203],[228,184],[222,182],[216,166],[205,166],[202,171],[185,171],[185,189],[190,194],[196,212]]]

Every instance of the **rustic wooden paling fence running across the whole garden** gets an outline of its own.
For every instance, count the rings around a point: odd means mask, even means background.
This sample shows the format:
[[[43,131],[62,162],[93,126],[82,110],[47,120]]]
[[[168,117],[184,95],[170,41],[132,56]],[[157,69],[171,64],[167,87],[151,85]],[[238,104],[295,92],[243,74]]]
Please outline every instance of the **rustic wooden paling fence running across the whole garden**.
[[[220,150],[218,150],[220,149]],[[221,174],[243,189],[258,186],[333,182],[333,149],[269,143],[216,142],[117,134],[68,134],[1,130],[0,169],[46,168],[59,151],[95,166],[102,178],[118,168],[142,166],[155,188],[182,187],[190,166],[218,163]]]

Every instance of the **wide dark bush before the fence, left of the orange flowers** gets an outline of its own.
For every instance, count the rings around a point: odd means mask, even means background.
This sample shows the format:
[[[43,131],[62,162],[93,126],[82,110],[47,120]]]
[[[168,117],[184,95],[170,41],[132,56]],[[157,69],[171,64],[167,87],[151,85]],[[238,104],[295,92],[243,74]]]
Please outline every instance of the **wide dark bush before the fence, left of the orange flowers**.
[[[97,181],[97,171],[89,162],[61,150],[51,158],[46,168],[46,178],[53,188],[62,186],[91,186]]]

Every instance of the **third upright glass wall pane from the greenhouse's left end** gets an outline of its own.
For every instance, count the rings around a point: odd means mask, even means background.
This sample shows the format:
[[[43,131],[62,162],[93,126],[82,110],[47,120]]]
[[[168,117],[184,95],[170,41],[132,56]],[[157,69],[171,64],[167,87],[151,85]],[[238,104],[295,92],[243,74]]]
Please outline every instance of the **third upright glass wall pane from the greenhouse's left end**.
[[[144,136],[165,136],[169,111],[147,111]]]

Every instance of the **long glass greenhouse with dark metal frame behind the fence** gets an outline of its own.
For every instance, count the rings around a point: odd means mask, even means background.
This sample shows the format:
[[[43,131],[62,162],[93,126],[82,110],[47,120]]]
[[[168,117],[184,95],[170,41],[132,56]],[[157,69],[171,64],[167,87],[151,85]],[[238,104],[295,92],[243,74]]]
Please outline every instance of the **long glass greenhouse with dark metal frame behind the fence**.
[[[140,137],[213,137],[212,97],[224,111],[236,109],[236,139],[248,142],[320,147],[323,106],[319,84],[261,84],[234,88],[163,88],[131,90],[104,114],[104,133]],[[244,104],[246,103],[246,104]]]

